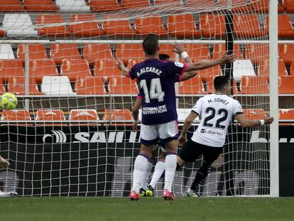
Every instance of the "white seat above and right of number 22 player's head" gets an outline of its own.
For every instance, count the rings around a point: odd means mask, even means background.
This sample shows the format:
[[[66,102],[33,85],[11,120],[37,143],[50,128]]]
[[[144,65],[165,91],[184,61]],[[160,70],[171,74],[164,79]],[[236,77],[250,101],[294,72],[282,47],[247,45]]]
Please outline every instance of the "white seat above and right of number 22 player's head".
[[[242,76],[256,76],[254,71],[254,66],[251,63],[251,60],[235,60],[233,63],[233,76],[236,82],[241,81]]]

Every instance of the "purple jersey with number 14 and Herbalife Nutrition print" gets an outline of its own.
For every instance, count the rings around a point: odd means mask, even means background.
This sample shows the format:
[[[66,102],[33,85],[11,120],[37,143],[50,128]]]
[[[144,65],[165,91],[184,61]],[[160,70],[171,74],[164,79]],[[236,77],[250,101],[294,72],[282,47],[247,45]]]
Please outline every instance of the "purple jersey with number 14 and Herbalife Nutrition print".
[[[134,65],[129,75],[139,81],[142,123],[165,124],[178,119],[175,108],[175,75],[179,81],[187,64],[148,59]]]

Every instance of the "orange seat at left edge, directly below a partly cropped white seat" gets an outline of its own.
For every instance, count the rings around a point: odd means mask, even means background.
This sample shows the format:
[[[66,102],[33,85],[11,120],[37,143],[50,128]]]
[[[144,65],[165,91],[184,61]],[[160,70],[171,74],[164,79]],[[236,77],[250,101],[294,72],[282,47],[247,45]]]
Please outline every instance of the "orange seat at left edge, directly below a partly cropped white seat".
[[[21,60],[0,60],[0,77],[5,82],[9,77],[23,77],[23,64]]]

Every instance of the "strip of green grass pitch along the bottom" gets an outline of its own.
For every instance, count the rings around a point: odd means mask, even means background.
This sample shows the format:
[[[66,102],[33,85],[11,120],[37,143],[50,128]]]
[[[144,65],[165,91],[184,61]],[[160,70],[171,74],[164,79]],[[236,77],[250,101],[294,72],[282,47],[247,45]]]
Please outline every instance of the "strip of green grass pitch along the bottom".
[[[1,198],[1,220],[294,220],[294,198]]]

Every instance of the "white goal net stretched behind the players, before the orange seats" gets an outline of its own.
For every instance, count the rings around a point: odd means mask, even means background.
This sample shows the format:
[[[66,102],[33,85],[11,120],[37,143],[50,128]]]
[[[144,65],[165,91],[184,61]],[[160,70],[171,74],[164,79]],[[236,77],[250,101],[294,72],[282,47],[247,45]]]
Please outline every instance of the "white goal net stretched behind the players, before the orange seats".
[[[60,2],[63,2],[61,4]],[[132,131],[136,82],[122,77],[114,58],[131,68],[145,59],[141,41],[160,39],[160,53],[183,62],[170,43],[182,43],[193,62],[219,58],[232,65],[201,70],[175,83],[180,129],[197,99],[214,92],[217,75],[232,79],[232,96],[251,119],[269,112],[267,1],[53,1],[1,9],[0,90],[18,97],[1,112],[1,191],[30,196],[125,196],[131,188],[139,131]],[[56,4],[56,5],[55,5]],[[263,43],[264,41],[264,43]],[[189,135],[197,128],[192,125]],[[269,127],[229,127],[221,156],[201,195],[268,195]],[[153,163],[154,170],[155,163]],[[183,195],[202,158],[175,173]],[[156,185],[161,195],[163,180]]]

